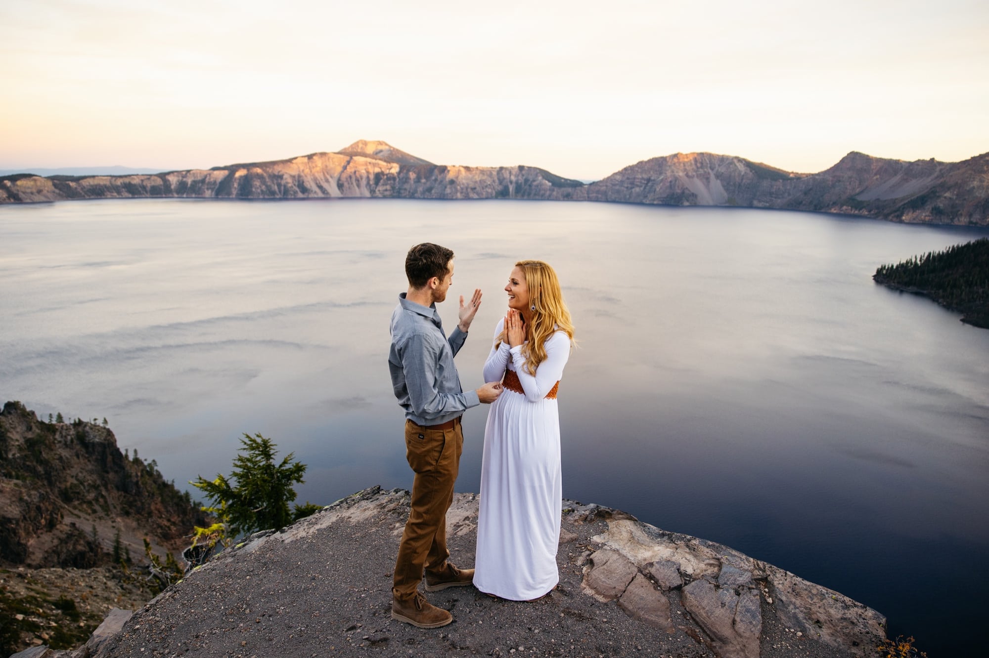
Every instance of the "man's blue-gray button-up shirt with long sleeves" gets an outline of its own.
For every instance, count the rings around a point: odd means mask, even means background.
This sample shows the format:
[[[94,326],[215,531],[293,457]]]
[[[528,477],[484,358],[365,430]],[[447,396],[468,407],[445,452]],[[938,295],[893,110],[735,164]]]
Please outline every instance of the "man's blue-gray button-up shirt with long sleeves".
[[[477,391],[465,393],[460,387],[453,365],[467,334],[458,326],[447,339],[436,304],[417,304],[403,292],[391,329],[388,370],[405,418],[417,425],[439,425],[481,404]]]

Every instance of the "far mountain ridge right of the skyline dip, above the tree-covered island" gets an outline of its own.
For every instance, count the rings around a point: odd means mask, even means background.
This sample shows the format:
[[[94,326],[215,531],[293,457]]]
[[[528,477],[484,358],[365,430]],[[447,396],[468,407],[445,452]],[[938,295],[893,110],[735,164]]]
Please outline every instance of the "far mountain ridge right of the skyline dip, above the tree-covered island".
[[[893,221],[989,225],[989,153],[964,162],[904,162],[852,152],[817,174],[744,158],[677,153],[591,183],[590,201],[749,206],[861,214]]]

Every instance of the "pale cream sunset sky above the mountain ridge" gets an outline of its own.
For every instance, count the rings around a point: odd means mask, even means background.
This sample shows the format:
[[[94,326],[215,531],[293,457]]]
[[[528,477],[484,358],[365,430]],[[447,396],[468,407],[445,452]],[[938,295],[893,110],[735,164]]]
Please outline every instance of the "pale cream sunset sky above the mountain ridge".
[[[989,2],[0,0],[0,169],[989,151]]]

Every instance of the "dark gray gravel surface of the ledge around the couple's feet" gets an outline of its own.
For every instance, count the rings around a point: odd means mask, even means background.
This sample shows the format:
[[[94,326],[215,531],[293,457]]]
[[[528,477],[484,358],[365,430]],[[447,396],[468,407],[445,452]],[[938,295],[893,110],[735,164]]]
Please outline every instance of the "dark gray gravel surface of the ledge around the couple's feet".
[[[671,617],[668,627],[630,617],[617,602],[585,593],[588,557],[601,547],[591,537],[607,530],[614,511],[565,508],[560,584],[535,602],[449,588],[425,596],[450,611],[453,623],[427,630],[392,619],[392,570],[408,493],[372,487],[280,533],[225,551],[136,612],[97,655],[714,658],[710,638],[690,619],[678,593],[672,593],[669,610],[656,614]],[[474,563],[476,511],[476,494],[457,494],[448,515],[451,561],[460,567]],[[666,596],[640,576],[641,582],[629,577],[636,581],[636,596]],[[852,655],[796,637],[760,601],[765,658]]]

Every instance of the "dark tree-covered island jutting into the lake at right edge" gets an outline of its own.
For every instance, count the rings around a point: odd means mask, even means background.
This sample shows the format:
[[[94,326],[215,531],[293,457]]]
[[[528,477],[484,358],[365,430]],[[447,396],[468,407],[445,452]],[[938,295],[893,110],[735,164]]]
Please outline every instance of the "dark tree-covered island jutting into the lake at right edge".
[[[872,279],[896,290],[926,294],[961,313],[962,322],[989,329],[989,238],[883,265]]]

